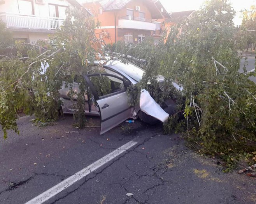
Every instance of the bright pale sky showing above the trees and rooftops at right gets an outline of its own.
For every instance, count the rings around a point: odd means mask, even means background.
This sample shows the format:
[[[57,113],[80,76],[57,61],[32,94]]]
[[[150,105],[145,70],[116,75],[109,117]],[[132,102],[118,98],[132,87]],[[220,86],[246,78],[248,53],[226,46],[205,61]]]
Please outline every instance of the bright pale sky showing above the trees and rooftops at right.
[[[160,0],[168,12],[178,12],[184,10],[198,10],[205,0]],[[237,11],[234,18],[235,26],[242,22],[240,10],[249,9],[251,5],[256,5],[256,0],[230,0],[233,8]]]

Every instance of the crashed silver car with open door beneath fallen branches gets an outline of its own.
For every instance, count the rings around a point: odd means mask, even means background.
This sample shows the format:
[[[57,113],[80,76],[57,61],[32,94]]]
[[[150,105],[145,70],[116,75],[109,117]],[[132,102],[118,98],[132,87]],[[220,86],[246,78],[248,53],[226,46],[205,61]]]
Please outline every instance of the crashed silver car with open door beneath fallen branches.
[[[92,94],[85,95],[86,109],[85,114],[89,116],[100,116],[101,118],[101,130],[103,134],[106,131],[114,128],[118,124],[122,123],[126,119],[134,118],[137,113],[140,119],[145,122],[154,122],[157,119],[150,118],[146,114],[140,111],[138,106],[131,106],[130,100],[126,92],[126,88],[130,85],[138,83],[144,74],[144,70],[132,63],[124,64],[120,60],[112,60],[103,65],[105,73],[88,74],[85,77],[86,83]],[[107,80],[109,83],[103,85],[96,83],[99,79]],[[79,84],[74,81],[74,92],[79,92]],[[63,81],[62,88],[60,90],[60,99],[62,101],[63,113],[74,113],[74,103],[77,100],[77,96],[74,94],[70,96],[70,86],[66,86],[66,82]],[[168,112],[173,112],[175,109],[175,103],[173,100],[165,102]]]

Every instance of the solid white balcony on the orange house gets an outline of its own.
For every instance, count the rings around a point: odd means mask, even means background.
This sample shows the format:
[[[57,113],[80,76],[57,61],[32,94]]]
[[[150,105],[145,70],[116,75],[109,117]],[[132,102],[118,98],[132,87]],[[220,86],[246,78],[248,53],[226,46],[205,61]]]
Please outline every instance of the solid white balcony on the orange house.
[[[156,22],[151,19],[139,18],[134,16],[121,16],[118,20],[118,28],[156,30]]]

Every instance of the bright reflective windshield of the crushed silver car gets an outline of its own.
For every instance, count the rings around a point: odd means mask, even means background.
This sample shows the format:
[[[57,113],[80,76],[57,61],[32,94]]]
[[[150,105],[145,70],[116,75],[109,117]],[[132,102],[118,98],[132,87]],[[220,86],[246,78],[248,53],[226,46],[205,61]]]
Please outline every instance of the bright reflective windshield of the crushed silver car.
[[[130,76],[133,80],[138,82],[142,79],[142,76],[145,72],[144,69],[130,62],[128,64],[124,64],[123,62],[117,61],[116,64],[112,63],[112,66],[116,67],[123,73]]]

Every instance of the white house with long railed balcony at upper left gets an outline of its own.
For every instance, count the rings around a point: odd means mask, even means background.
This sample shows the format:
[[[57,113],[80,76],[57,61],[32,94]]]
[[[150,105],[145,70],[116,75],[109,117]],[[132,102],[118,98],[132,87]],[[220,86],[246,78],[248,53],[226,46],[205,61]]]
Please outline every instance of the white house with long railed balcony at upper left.
[[[0,0],[0,19],[15,40],[32,43],[60,28],[70,6],[81,7],[76,0]]]

